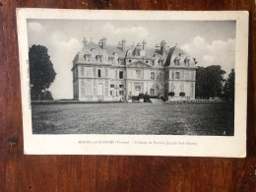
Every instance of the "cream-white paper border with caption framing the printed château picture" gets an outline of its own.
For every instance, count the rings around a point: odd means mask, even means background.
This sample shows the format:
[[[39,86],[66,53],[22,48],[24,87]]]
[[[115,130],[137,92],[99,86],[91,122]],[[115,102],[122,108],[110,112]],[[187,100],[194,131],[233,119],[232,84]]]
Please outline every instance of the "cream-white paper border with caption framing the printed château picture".
[[[234,136],[32,134],[27,19],[236,20]],[[248,12],[98,11],[20,8],[17,9],[17,24],[25,154],[227,158],[244,158],[246,156]]]

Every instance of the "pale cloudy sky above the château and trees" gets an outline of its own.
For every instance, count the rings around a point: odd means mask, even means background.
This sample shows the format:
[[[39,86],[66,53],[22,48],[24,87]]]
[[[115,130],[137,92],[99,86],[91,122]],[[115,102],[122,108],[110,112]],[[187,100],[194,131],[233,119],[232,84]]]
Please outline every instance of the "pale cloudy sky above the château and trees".
[[[83,48],[83,38],[97,43],[117,45],[122,38],[133,44],[147,41],[154,47],[161,40],[186,51],[198,61],[197,66],[221,65],[228,76],[235,64],[235,21],[92,21],[37,20],[28,21],[29,46],[44,45],[56,71],[49,90],[54,99],[73,98],[72,60]]]

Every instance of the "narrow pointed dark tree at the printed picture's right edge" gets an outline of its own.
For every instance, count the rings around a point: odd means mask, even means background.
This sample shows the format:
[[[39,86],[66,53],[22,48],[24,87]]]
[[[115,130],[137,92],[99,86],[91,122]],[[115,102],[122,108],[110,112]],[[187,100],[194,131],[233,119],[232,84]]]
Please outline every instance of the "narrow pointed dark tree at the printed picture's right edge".
[[[225,100],[234,100],[234,79],[235,73],[234,69],[231,69],[230,74],[228,75],[225,84],[224,84],[224,99]]]

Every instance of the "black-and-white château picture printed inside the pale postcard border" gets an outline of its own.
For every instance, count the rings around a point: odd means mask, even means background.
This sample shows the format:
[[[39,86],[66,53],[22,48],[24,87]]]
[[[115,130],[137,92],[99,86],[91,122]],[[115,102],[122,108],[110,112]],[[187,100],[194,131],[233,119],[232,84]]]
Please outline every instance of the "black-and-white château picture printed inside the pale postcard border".
[[[31,134],[234,137],[236,19],[129,15],[26,18]]]

